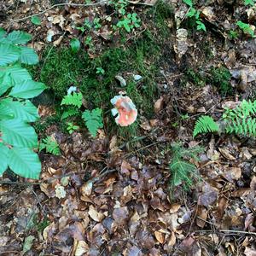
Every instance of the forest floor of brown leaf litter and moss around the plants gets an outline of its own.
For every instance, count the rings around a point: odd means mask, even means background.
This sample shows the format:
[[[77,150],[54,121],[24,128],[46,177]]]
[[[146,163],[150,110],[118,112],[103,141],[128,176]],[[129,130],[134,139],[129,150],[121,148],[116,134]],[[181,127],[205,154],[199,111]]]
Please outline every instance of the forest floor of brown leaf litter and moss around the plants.
[[[186,16],[190,1],[146,1],[0,0],[0,27],[32,34],[40,62],[28,68],[49,88],[34,100],[39,140],[61,148],[39,153],[38,181],[1,177],[1,255],[256,255],[255,139],[193,137],[201,115],[218,120],[224,108],[255,98],[256,6],[195,1],[205,32]],[[113,26],[129,13],[138,27]],[[96,137],[79,115],[61,120],[70,86],[82,92],[82,109],[102,108]],[[120,91],[138,111],[128,127],[110,111]],[[68,122],[79,130],[69,134]],[[175,145],[202,151],[186,159],[194,175],[173,185]]]

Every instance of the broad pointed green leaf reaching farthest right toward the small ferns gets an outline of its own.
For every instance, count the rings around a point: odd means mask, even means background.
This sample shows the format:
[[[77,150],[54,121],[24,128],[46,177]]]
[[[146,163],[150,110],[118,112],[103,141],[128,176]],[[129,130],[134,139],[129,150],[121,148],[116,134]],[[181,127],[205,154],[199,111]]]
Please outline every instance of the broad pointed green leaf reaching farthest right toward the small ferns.
[[[9,95],[22,99],[29,99],[38,96],[44,89],[46,89],[45,84],[33,80],[26,80],[21,84],[15,84]]]

